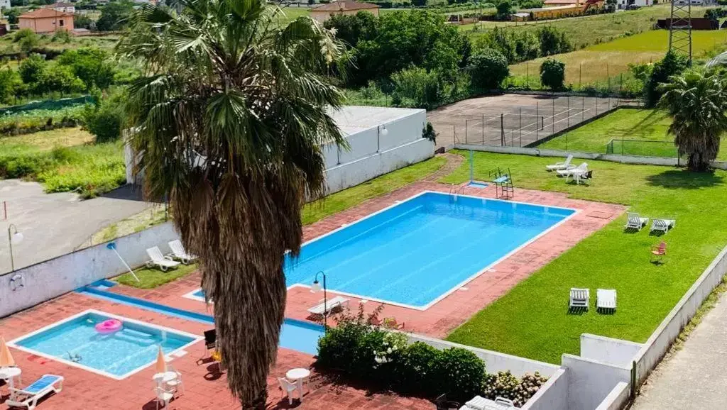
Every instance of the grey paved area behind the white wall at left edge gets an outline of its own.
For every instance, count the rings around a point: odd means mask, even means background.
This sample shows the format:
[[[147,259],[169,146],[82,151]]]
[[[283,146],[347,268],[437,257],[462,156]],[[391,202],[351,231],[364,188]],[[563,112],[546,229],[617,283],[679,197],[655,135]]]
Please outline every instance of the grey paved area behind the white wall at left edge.
[[[0,180],[1,201],[7,201],[7,220],[0,207],[0,273],[10,270],[10,223],[24,237],[13,245],[17,269],[71,252],[106,225],[151,205],[129,188],[81,201],[75,193],[47,194],[39,183],[22,180]]]

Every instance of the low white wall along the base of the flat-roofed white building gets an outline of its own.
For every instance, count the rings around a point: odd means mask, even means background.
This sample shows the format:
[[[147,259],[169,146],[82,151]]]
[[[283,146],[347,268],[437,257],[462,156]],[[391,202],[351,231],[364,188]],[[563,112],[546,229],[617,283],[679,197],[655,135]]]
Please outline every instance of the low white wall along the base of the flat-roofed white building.
[[[434,142],[419,138],[348,164],[326,169],[328,193],[338,192],[434,156]]]

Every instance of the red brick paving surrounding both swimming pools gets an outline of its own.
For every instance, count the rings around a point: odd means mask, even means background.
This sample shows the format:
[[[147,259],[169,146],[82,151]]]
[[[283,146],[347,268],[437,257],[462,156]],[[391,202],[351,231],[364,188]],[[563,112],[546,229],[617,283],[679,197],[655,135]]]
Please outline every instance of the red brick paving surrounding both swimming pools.
[[[435,190],[449,193],[449,185],[435,182],[417,182],[393,193],[365,201],[344,212],[328,217],[304,228],[305,240],[321,236],[341,225],[355,222],[372,212],[421,193]],[[464,188],[463,194],[494,198],[494,188]],[[541,192],[535,190],[515,190],[515,201],[564,206],[578,209],[571,219],[550,230],[544,236],[524,246],[518,252],[499,262],[490,270],[482,273],[459,290],[449,294],[427,310],[414,310],[393,305],[385,305],[382,315],[393,316],[406,323],[405,331],[444,337],[452,329],[464,323],[467,318],[507,293],[515,284],[541,268],[561,253],[577,244],[604,225],[614,220],[624,206],[602,204],[590,201],[569,199],[566,194]],[[181,278],[156,289],[135,289],[128,286],[114,286],[110,290],[140,297],[145,300],[163,303],[174,308],[209,313],[204,303],[182,297],[199,287],[199,274]],[[334,292],[329,292],[329,297]],[[321,294],[312,294],[308,288],[295,287],[289,291],[286,316],[307,319],[307,310],[318,303]],[[359,301],[352,298],[351,307]],[[367,311],[373,310],[378,302],[366,302]],[[37,305],[0,320],[0,335],[12,340],[40,329],[55,321],[80,313],[87,309],[123,315],[140,321],[167,326],[172,329],[202,334],[209,325],[185,319],[154,313],[148,310],[121,305],[78,293],[69,293],[49,302]],[[41,358],[11,347],[17,365],[23,369],[23,382],[32,382],[42,374],[60,374],[65,377],[63,391],[41,402],[38,409],[156,409],[153,382],[153,367],[143,369],[123,380],[115,380],[99,374],[68,366],[57,361]],[[169,406],[170,409],[238,409],[240,406],[228,393],[225,374],[218,371],[216,363],[198,361],[203,355],[204,344],[197,342],[187,349],[188,354],[174,358],[172,364],[182,373],[185,393],[179,395]],[[278,388],[276,377],[283,377],[288,369],[310,367],[314,359],[310,355],[281,348],[278,350],[278,363],[268,377],[268,408],[286,409],[288,402]],[[1,382],[0,382],[1,383]],[[302,403],[294,401],[293,407],[300,409],[433,409],[433,404],[419,398],[406,398],[385,393],[371,393],[356,387],[337,385],[313,374],[310,393]],[[0,385],[2,399],[7,400],[7,386]]]

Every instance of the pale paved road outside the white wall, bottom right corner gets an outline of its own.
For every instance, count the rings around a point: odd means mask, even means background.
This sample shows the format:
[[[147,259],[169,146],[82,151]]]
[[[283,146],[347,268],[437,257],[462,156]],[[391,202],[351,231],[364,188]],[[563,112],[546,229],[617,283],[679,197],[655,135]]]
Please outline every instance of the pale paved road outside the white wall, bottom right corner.
[[[632,409],[726,409],[726,388],[727,294],[723,294],[683,349],[651,374]]]

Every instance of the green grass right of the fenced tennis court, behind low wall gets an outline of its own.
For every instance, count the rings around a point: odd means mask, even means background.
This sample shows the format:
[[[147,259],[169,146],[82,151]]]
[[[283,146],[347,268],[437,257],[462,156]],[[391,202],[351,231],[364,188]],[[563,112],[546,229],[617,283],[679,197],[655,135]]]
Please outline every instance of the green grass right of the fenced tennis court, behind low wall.
[[[664,111],[624,108],[538,145],[538,148],[606,153],[608,141],[621,139],[627,141],[614,141],[613,153],[673,158],[677,155],[672,143],[674,137],[667,134],[671,122]],[[717,158],[727,160],[727,144],[720,146]]]

